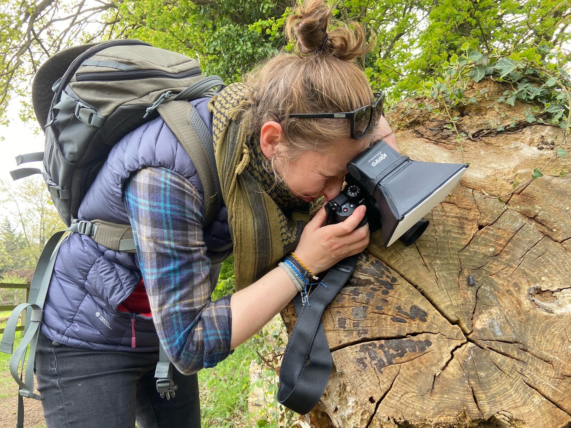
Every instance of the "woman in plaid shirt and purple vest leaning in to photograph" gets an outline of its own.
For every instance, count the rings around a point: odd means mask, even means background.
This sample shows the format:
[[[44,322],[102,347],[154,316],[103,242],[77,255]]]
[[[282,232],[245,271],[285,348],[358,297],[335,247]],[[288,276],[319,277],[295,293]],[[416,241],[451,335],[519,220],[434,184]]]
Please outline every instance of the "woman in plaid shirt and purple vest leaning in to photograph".
[[[348,161],[391,134],[379,111],[372,117],[378,100],[354,62],[369,50],[363,31],[328,32],[330,18],[321,0],[308,1],[286,27],[299,54],[192,102],[212,129],[226,204],[208,228],[194,165],[162,119],[112,148],[79,219],[130,223],[136,256],[79,233],[63,241],[36,356],[47,426],[200,426],[196,372],[283,309],[296,272],[319,274],[367,247],[368,226],[356,228],[365,207],[340,224],[323,226],[323,208],[308,221],[310,203],[339,193]],[[295,117],[364,106],[354,123]],[[385,141],[395,147],[394,136]],[[215,255],[231,244],[238,291],[212,302]],[[292,251],[296,268],[276,267]],[[159,340],[178,385],[168,401],[155,389]]]

